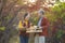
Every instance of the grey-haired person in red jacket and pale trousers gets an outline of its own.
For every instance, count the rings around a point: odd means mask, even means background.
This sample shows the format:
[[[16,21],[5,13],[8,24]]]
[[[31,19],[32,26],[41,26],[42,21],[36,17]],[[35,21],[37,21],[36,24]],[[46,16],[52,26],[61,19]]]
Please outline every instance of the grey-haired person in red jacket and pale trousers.
[[[48,37],[48,28],[50,24],[48,18],[44,16],[44,11],[42,9],[38,11],[38,27],[41,27],[42,32],[39,33],[38,38],[35,37],[35,43],[46,43],[46,38]]]

